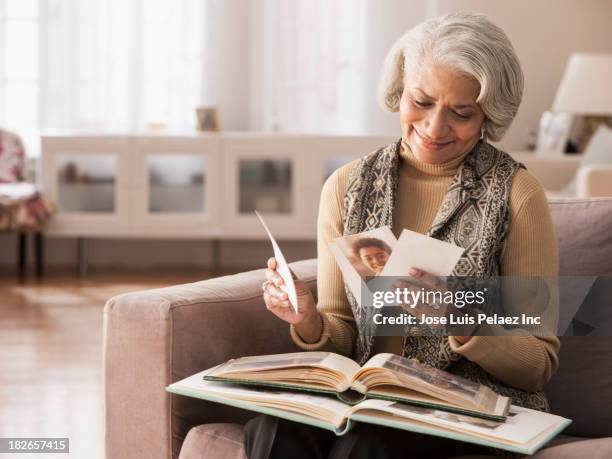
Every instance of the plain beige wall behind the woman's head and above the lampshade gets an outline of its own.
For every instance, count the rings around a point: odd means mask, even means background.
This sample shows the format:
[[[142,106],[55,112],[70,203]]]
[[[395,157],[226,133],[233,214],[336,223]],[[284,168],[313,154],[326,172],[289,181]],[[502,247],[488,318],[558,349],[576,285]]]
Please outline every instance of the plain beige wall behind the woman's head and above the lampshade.
[[[524,149],[529,130],[551,108],[571,53],[612,53],[612,2],[607,0],[379,0],[369,8],[368,134],[399,133],[397,115],[383,113],[375,103],[378,71],[393,42],[427,17],[479,12],[510,37],[525,73],[525,93],[512,127],[500,142],[508,151]]]

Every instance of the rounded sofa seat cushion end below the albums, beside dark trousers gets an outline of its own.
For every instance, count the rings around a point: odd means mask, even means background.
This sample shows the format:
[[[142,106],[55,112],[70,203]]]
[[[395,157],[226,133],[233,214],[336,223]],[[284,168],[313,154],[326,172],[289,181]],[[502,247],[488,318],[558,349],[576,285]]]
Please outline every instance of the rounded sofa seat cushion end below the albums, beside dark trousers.
[[[179,459],[246,459],[240,424],[204,424],[192,428],[181,447]]]

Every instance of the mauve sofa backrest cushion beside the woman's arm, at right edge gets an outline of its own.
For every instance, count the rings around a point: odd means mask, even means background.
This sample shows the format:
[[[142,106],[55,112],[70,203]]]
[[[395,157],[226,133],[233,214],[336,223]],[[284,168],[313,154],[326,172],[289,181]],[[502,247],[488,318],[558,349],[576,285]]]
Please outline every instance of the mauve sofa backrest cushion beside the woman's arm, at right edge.
[[[612,199],[554,200],[561,276],[612,275]],[[564,284],[560,286],[561,290]],[[554,413],[574,422],[565,433],[612,436],[611,337],[561,337],[559,370],[546,387]]]

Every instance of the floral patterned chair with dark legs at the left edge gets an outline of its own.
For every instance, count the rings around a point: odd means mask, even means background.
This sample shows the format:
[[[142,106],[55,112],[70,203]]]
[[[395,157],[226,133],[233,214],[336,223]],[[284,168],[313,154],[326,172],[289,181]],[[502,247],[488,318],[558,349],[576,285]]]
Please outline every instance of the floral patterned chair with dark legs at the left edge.
[[[18,135],[0,129],[0,231],[18,234],[18,274],[23,278],[27,266],[27,236],[34,235],[36,274],[42,277],[42,228],[53,214],[54,206],[35,185],[25,182],[25,150]]]

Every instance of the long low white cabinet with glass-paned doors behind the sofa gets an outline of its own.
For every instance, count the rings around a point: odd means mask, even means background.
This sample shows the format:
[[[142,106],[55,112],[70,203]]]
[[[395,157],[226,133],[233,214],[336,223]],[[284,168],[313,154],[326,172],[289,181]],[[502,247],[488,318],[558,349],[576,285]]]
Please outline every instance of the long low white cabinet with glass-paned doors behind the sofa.
[[[43,137],[56,236],[282,239],[316,235],[324,180],[390,137],[220,133]]]

